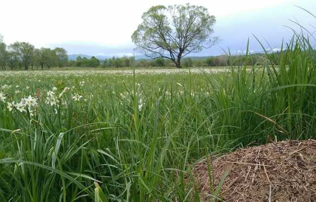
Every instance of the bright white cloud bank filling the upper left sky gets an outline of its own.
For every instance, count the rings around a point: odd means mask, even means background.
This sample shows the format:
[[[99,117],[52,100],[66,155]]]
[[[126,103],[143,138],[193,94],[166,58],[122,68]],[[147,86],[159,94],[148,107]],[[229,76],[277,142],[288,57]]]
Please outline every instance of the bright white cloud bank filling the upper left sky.
[[[154,5],[203,5],[216,17],[270,7],[286,0],[1,0],[0,33],[6,43],[131,43],[142,13]]]

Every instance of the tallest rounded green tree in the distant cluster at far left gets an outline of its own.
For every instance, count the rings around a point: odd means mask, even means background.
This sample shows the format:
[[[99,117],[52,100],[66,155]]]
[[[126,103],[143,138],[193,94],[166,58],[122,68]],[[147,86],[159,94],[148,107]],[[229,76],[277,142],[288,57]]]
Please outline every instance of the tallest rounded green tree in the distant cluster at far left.
[[[34,46],[26,42],[15,42],[10,44],[9,49],[19,56],[23,61],[24,69],[28,70],[34,57]]]

